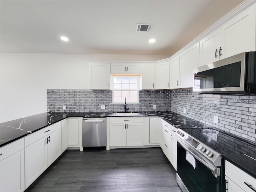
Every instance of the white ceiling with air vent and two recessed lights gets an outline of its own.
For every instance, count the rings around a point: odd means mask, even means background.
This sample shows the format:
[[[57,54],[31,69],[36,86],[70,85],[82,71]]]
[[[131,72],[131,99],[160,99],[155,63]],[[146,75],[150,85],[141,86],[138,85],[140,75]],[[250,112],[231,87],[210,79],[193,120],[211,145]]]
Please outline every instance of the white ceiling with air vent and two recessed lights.
[[[172,55],[241,2],[1,0],[0,48],[1,52]],[[137,23],[154,26],[151,32],[136,32]],[[156,42],[150,44],[150,38]]]

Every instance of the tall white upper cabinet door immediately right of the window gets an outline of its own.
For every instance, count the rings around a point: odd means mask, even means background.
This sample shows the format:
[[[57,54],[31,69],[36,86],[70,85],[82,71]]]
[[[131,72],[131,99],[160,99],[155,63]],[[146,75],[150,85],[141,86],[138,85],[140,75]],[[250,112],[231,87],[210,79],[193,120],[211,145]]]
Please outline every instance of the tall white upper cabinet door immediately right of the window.
[[[155,89],[156,64],[142,64],[142,89]]]

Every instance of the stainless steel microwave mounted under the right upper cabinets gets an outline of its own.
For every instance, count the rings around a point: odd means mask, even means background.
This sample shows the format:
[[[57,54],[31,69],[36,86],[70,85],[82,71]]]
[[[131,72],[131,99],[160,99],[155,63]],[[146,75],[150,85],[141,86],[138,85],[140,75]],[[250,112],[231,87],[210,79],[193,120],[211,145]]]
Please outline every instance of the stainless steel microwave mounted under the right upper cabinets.
[[[256,94],[256,52],[243,52],[195,68],[193,92]]]

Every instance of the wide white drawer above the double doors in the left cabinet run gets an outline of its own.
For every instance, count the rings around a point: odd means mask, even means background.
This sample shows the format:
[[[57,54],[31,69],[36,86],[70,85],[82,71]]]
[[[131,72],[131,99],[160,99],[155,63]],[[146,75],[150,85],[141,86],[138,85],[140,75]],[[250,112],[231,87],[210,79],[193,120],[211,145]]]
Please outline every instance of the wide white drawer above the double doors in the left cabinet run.
[[[25,147],[61,128],[61,122],[50,125],[25,137]]]

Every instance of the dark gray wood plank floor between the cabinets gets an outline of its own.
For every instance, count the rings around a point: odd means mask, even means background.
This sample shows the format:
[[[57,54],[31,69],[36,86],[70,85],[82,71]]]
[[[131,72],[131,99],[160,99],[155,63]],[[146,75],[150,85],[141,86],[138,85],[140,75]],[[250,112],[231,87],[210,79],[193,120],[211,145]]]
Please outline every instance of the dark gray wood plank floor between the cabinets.
[[[66,150],[26,192],[181,192],[160,148]]]

